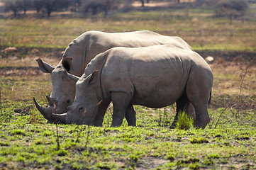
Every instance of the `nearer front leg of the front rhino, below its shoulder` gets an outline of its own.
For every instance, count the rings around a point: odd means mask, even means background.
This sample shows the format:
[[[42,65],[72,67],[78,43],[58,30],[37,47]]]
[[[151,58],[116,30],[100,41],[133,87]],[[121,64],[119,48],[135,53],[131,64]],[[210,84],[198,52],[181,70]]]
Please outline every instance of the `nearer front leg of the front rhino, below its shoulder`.
[[[123,118],[130,103],[131,97],[125,92],[111,92],[111,100],[113,102],[113,120],[111,126],[121,126]]]

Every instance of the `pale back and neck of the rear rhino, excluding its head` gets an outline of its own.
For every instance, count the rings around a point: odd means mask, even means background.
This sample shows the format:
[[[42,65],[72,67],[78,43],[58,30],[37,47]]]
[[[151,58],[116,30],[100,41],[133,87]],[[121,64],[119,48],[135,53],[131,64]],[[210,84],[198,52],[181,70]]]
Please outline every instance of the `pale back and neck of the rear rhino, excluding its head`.
[[[88,31],[69,43],[63,57],[73,57],[73,67],[70,72],[81,76],[87,64],[96,55],[112,47],[145,47],[164,44],[192,50],[182,38],[160,35],[149,30],[128,33]]]

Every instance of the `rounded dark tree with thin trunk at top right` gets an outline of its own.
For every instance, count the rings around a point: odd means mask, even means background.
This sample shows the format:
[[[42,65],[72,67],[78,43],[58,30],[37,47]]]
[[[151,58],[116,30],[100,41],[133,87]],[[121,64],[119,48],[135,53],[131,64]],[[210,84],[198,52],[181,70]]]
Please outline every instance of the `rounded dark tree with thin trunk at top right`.
[[[233,18],[245,15],[247,8],[247,1],[220,0],[216,4],[216,13],[218,16],[228,16],[231,24]]]

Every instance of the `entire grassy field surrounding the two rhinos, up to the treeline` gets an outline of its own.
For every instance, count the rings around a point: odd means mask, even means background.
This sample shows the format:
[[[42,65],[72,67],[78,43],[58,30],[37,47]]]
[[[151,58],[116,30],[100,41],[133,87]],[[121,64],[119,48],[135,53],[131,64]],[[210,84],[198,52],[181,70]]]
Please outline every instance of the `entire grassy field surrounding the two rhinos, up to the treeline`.
[[[228,22],[201,9],[0,19],[0,169],[256,169],[256,21]],[[125,120],[110,128],[112,107],[102,128],[46,123],[32,98],[46,106],[50,75],[40,72],[35,57],[55,66],[87,30],[144,29],[178,35],[203,57],[214,57],[205,130],[169,129],[174,106],[135,106],[136,127]],[[18,50],[2,51],[9,46]]]

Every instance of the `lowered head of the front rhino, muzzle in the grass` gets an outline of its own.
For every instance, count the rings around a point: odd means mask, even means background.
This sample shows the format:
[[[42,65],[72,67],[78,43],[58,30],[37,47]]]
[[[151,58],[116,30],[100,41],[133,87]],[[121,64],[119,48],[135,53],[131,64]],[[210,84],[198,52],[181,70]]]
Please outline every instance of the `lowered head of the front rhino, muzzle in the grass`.
[[[45,108],[49,111],[40,111],[40,113],[50,122],[93,125],[100,101],[98,93],[95,93],[98,89],[98,72],[97,70],[88,77],[82,75],[79,79],[76,79],[72,74],[67,74],[73,82],[77,81],[74,102],[67,107],[67,113],[56,114],[51,112],[50,108]],[[36,101],[35,105],[38,107]]]

